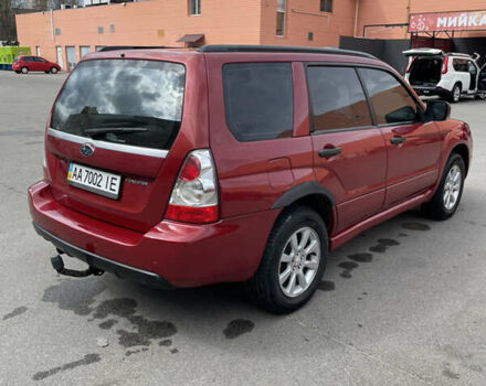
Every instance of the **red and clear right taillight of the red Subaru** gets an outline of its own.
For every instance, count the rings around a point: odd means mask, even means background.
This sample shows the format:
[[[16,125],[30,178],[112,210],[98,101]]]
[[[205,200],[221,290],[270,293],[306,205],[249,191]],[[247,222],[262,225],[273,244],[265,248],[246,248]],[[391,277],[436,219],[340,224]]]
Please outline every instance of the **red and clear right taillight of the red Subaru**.
[[[219,218],[214,162],[208,149],[186,158],[170,195],[166,218],[183,223],[213,223]]]

